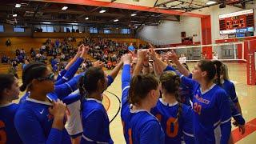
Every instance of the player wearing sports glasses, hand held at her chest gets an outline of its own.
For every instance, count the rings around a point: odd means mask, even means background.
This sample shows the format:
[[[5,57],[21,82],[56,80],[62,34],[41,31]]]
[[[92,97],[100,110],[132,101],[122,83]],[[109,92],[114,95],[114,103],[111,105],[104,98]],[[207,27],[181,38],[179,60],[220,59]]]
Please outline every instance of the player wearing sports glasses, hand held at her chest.
[[[71,143],[64,128],[66,105],[47,98],[54,91],[54,73],[45,65],[35,66],[22,74],[22,80],[22,89],[30,89],[14,118],[22,142]]]

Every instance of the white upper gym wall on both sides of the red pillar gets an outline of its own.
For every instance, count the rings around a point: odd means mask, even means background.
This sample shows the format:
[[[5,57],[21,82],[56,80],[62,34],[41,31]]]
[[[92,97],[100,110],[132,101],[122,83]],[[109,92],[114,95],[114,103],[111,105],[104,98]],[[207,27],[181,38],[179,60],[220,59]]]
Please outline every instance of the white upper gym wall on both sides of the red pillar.
[[[254,9],[254,22],[256,22],[256,4],[247,5],[246,9]],[[226,8],[224,9],[220,9],[218,5],[216,5],[204,8],[202,10],[194,10],[192,12],[196,14],[210,15],[211,37],[212,43],[214,43],[216,39],[228,38],[227,35],[219,34],[218,16],[220,14],[228,14],[239,10],[244,9],[229,5],[226,5]],[[166,21],[163,22],[160,26],[144,26],[142,30],[138,32],[138,37],[145,39],[146,41],[159,42],[161,45],[181,43],[182,31],[186,31],[186,37],[197,34],[198,36],[193,38],[194,42],[202,42],[200,18],[192,17],[181,17],[181,22]],[[256,35],[255,29],[254,35]]]

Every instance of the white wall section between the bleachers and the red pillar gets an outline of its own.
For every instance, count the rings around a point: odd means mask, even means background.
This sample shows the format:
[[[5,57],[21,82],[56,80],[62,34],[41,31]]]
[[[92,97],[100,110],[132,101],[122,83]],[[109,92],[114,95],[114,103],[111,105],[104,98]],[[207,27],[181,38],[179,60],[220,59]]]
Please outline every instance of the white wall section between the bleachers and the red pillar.
[[[181,32],[186,32],[186,37],[193,37],[194,42],[201,41],[200,18],[181,17],[180,22],[164,21],[159,26],[144,26],[138,32],[138,38],[142,38],[156,45],[170,43],[182,43]],[[196,36],[195,36],[196,35]]]

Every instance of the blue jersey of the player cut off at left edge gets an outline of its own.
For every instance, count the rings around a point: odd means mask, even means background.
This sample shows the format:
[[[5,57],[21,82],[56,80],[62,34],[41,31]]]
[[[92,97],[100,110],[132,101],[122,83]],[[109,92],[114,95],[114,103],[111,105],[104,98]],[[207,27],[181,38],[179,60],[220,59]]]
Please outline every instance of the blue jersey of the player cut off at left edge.
[[[0,143],[22,143],[18,132],[14,127],[14,115],[18,110],[18,104],[10,103],[0,106]]]

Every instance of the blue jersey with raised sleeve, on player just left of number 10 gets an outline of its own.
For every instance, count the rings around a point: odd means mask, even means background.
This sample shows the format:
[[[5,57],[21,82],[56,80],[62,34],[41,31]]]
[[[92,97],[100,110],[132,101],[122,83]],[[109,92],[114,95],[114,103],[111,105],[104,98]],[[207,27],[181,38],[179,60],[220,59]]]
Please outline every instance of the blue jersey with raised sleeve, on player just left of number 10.
[[[165,134],[158,119],[146,110],[132,110],[127,101],[130,89],[130,65],[122,70],[122,110],[121,118],[126,143],[165,143]]]

